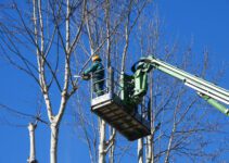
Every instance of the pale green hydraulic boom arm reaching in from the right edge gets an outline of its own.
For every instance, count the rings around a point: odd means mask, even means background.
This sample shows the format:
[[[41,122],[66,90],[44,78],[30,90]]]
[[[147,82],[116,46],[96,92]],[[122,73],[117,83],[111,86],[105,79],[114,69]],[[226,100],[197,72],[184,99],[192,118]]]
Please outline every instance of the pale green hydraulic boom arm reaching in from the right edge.
[[[136,65],[143,65],[142,67],[147,67],[147,72],[152,68],[156,68],[162,71],[173,77],[180,79],[185,85],[194,89],[200,97],[206,100],[211,105],[218,109],[220,112],[229,116],[229,110],[219,103],[218,101],[229,105],[229,91],[220,88],[209,82],[206,82],[200,77],[191,75],[180,68],[177,68],[164,61],[155,59],[153,55],[149,55],[148,58],[142,58],[138,61],[133,66],[132,71],[136,72]],[[141,66],[139,66],[141,68]],[[137,67],[137,68],[139,68]]]

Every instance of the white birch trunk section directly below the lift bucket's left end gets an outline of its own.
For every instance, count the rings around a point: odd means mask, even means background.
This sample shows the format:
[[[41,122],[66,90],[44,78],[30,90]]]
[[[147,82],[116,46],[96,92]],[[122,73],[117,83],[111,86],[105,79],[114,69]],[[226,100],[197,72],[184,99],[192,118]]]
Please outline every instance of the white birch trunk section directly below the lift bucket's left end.
[[[105,163],[105,122],[100,120],[99,163]]]

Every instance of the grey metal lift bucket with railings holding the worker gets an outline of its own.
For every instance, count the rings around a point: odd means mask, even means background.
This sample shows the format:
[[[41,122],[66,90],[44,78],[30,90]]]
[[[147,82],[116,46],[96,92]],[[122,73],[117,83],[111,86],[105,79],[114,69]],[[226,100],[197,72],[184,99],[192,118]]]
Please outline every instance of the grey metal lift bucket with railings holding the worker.
[[[102,96],[91,96],[91,111],[132,141],[151,134],[150,122],[144,111],[137,112],[138,105],[128,105],[124,85],[130,76],[109,70],[105,91]],[[93,92],[92,92],[93,93]]]

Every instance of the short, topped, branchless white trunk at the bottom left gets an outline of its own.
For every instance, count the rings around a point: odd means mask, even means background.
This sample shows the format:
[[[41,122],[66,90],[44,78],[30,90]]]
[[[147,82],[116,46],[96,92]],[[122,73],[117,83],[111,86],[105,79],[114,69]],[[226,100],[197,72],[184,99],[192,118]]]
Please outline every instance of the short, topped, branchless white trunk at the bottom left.
[[[36,125],[31,123],[28,124],[29,142],[30,142],[30,152],[29,152],[29,158],[27,160],[28,163],[36,162],[35,128],[36,128]]]

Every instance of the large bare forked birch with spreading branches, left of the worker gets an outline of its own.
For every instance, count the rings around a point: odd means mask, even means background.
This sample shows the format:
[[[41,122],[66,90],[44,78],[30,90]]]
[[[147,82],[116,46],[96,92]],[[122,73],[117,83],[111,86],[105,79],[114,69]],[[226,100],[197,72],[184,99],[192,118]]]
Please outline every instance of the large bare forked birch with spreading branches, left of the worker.
[[[13,9],[5,14],[9,20],[1,24],[1,48],[8,51],[4,53],[5,58],[14,66],[31,76],[43,95],[51,130],[51,163],[58,162],[60,123],[67,101],[77,90],[71,63],[73,51],[82,32],[86,4],[86,0],[43,3],[41,0],[33,0],[33,3],[28,2],[28,7],[33,7],[29,13],[14,2]],[[79,18],[76,20],[75,16]],[[25,49],[29,50],[30,55],[24,52]],[[37,60],[37,65],[34,59]],[[60,95],[59,109],[53,108],[51,97],[53,88]]]

